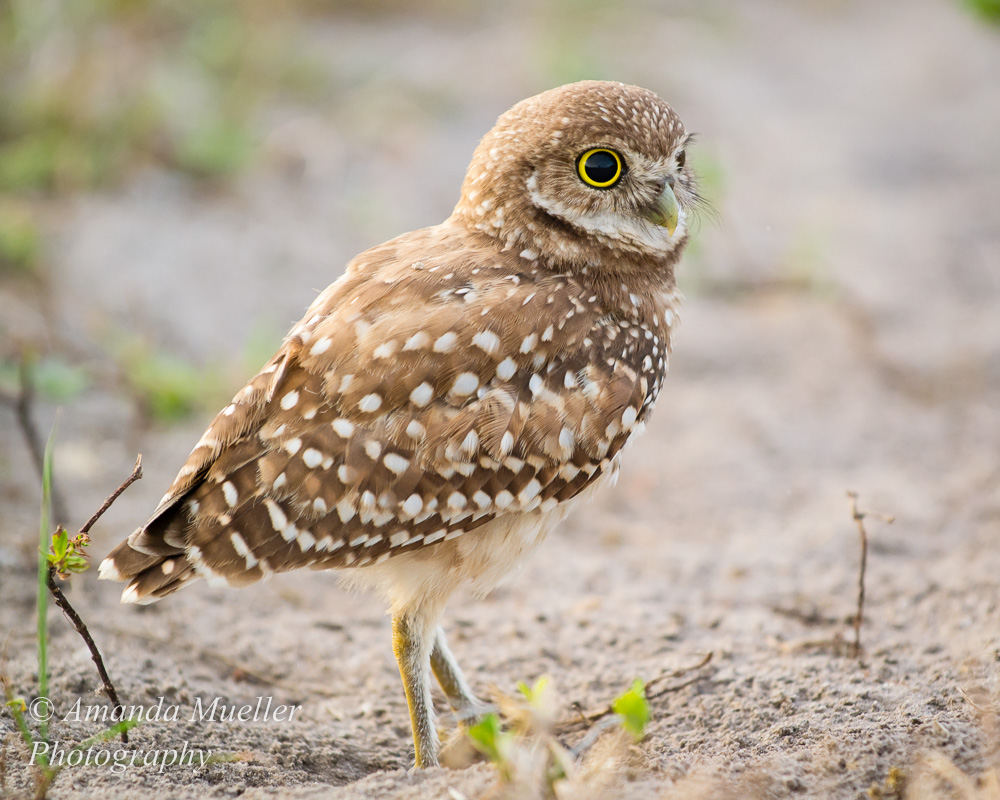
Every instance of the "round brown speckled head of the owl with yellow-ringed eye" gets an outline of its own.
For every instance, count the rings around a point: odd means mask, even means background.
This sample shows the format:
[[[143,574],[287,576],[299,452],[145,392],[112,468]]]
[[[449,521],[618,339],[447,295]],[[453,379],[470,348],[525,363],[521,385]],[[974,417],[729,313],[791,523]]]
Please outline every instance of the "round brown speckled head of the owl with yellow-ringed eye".
[[[646,89],[560,86],[500,116],[473,155],[455,215],[526,258],[672,263],[697,201],[690,138]]]

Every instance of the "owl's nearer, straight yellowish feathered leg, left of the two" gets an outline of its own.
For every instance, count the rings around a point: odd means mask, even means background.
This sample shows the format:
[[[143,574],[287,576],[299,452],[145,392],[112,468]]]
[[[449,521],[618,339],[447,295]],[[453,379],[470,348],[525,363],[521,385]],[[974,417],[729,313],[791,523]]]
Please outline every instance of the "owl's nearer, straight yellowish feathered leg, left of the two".
[[[437,728],[431,702],[430,659],[436,638],[435,620],[424,614],[394,614],[392,649],[403,679],[406,704],[413,728],[415,764],[418,769],[438,765]]]

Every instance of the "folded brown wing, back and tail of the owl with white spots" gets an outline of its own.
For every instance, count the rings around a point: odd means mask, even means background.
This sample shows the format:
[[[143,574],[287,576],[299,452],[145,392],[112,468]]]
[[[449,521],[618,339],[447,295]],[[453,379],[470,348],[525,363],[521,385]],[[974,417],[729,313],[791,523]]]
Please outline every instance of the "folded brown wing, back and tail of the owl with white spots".
[[[433,229],[362,254],[101,576],[150,602],[199,575],[364,566],[555,508],[642,422],[654,380],[636,365],[663,346],[595,302],[568,276],[441,246]]]

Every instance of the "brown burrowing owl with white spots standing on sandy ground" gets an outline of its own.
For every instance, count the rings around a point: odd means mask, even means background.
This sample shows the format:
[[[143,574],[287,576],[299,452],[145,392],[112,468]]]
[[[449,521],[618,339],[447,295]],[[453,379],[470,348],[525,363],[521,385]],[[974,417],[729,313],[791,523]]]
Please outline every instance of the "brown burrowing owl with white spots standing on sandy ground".
[[[479,707],[438,626],[449,595],[495,586],[653,408],[697,201],[688,141],[620,83],[503,114],[452,215],[348,264],[101,577],[131,603],[306,566],[374,585],[417,766],[436,764],[431,670]]]

